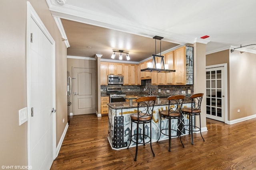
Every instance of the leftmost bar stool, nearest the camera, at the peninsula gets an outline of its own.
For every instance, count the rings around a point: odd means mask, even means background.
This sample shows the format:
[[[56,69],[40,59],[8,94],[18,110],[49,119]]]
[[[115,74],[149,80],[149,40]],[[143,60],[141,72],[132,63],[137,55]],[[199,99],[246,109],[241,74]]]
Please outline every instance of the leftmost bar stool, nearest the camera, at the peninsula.
[[[130,115],[131,117],[131,141],[127,149],[129,149],[130,145],[132,142],[136,143],[136,152],[135,152],[135,158],[134,161],[137,159],[137,153],[138,153],[138,144],[143,144],[145,145],[146,143],[150,142],[150,147],[151,151],[153,153],[153,156],[155,156],[154,151],[152,149],[152,144],[151,144],[151,120],[152,120],[152,113],[154,109],[154,105],[156,102],[156,96],[143,96],[139,97],[136,99],[136,102],[138,104],[137,107],[137,113],[133,113]],[[136,129],[136,134],[134,131],[134,135],[132,135],[132,123],[137,124],[137,129]],[[150,136],[145,134],[145,124],[150,123]],[[142,128],[142,133],[141,133],[141,128],[139,124],[143,125]],[[140,130],[140,131],[139,131]],[[148,134],[148,133],[147,133]],[[134,139],[133,139],[134,137]],[[141,141],[139,141],[139,138]],[[145,139],[146,142],[145,142]]]

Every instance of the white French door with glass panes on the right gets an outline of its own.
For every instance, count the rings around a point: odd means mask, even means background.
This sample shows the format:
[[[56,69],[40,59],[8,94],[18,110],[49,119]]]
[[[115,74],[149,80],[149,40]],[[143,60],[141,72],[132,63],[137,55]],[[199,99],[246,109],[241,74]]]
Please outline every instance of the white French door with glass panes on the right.
[[[206,117],[225,122],[224,66],[206,68]]]

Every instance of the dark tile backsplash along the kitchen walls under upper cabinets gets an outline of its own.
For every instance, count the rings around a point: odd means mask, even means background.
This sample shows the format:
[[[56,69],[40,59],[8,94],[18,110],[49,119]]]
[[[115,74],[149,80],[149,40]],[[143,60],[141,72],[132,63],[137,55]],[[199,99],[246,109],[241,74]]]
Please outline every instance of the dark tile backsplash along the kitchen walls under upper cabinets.
[[[146,80],[146,85],[145,86],[122,86],[120,84],[112,84],[109,86],[100,86],[101,92],[106,93],[108,87],[121,87],[122,92],[124,93],[148,93],[149,88],[151,88],[151,94],[153,95],[160,95],[160,94],[170,94],[175,95],[175,94],[182,94],[182,91],[186,91],[186,95],[188,94],[188,90],[191,90],[191,94],[194,93],[194,85],[177,85],[177,86],[156,86],[156,85],[151,85],[151,79]],[[146,88],[146,91],[144,91],[144,88]],[[161,89],[161,92],[158,92],[158,89]],[[169,92],[167,92],[169,90]]]

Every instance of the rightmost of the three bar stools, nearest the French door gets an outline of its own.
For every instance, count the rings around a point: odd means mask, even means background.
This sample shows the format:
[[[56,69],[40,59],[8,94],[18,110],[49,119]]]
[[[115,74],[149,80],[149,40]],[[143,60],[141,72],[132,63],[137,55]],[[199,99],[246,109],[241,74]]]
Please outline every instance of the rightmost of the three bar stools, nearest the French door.
[[[200,131],[201,137],[204,140],[202,133],[201,133],[201,102],[204,94],[203,93],[198,93],[190,96],[191,99],[191,107],[183,107],[181,109],[181,112],[184,115],[188,115],[189,117],[189,125],[184,125],[184,129],[189,131],[189,134],[191,133],[191,144],[194,145],[193,142],[193,132]],[[196,125],[193,125],[193,118],[195,119],[195,116],[199,115],[199,123],[200,123],[200,128],[197,127]],[[185,126],[189,126],[189,129],[186,129]],[[197,128],[198,130],[195,130]]]

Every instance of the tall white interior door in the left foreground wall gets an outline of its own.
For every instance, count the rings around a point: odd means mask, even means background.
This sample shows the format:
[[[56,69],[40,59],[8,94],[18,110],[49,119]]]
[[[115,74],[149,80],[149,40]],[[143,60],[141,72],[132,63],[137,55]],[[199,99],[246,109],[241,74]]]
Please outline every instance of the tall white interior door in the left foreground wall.
[[[28,11],[34,10],[28,4]],[[36,15],[28,18],[28,165],[49,170],[56,158],[55,44]]]

